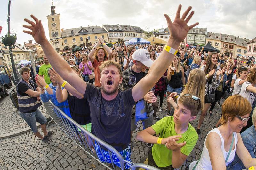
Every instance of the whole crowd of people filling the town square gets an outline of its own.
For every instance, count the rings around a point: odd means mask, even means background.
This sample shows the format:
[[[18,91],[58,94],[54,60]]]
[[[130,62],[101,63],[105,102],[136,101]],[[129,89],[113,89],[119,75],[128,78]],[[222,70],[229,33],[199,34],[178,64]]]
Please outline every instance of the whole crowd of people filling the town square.
[[[46,39],[41,20],[31,15],[34,22],[25,19],[30,25],[23,25],[30,31],[23,32],[33,36],[45,56],[35,81],[30,80],[28,67],[21,71],[22,80],[17,85],[20,116],[38,138],[49,142],[53,131],[46,131],[46,119],[37,108],[40,100],[51,100],[127,161],[131,161],[132,132],[141,121],[143,130],[136,138],[150,147],[148,165],[165,170],[179,168],[185,162],[202,132],[205,116],[214,116],[217,103],[222,106],[220,120],[208,132],[200,158],[187,168],[254,169],[255,59],[187,47],[183,39],[198,23],[187,25],[194,14],[191,7],[181,18],[180,10],[181,5],[173,21],[164,15],[172,35],[166,45],[109,48],[99,38],[91,50],[63,56]],[[225,99],[222,105],[221,98]],[[164,100],[167,114],[159,117],[157,111],[164,110]],[[199,112],[195,129],[189,122],[196,120]],[[37,131],[36,121],[44,137]],[[101,152],[97,143],[92,145],[102,162],[113,160],[120,166],[115,155],[110,158],[107,148],[102,146]],[[129,168],[127,164],[125,167]]]

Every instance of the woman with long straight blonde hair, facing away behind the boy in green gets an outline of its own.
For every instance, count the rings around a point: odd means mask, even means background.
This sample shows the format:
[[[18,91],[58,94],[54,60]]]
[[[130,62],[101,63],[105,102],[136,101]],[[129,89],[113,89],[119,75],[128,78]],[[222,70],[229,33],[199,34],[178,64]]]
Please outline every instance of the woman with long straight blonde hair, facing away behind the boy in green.
[[[191,94],[194,96],[198,96],[201,100],[202,109],[204,109],[204,89],[205,89],[205,74],[200,69],[193,69],[189,73],[188,84],[185,89],[182,91],[182,94]],[[173,98],[178,97],[178,93],[173,92],[168,97],[167,102],[172,105],[173,108],[176,108],[177,104],[174,102]]]

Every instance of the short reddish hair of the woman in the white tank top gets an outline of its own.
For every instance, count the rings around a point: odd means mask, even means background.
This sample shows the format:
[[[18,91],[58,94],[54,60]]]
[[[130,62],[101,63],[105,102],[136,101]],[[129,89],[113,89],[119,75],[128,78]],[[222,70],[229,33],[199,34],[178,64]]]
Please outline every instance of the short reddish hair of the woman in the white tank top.
[[[251,113],[251,111],[251,104],[246,98],[240,95],[232,95],[222,104],[222,117],[220,123],[228,123],[229,117],[231,117],[230,121],[232,121],[236,115],[241,117]]]

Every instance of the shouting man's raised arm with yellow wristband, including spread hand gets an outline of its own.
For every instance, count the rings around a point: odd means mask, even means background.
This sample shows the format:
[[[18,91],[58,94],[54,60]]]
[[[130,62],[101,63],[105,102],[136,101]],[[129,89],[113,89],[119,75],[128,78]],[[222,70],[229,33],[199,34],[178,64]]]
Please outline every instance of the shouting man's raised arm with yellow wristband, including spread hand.
[[[181,5],[179,5],[175,20],[173,23],[169,18],[169,16],[167,14],[164,14],[169,31],[170,31],[170,38],[166,43],[167,46],[170,46],[173,49],[178,49],[180,42],[185,39],[185,37],[188,34],[188,31],[194,26],[199,24],[197,22],[190,26],[187,25],[188,21],[194,14],[194,11],[192,11],[188,15],[191,8],[192,8],[191,6],[188,7],[188,9],[184,12],[182,17],[180,18]],[[173,58],[174,58],[173,54],[167,52],[166,50],[163,50],[159,58],[153,63],[153,65],[149,69],[148,74],[144,78],[142,78],[132,89],[132,96],[135,102],[142,99],[142,97],[145,96],[147,92],[156,84],[156,82],[162,77],[164,72],[170,66]]]

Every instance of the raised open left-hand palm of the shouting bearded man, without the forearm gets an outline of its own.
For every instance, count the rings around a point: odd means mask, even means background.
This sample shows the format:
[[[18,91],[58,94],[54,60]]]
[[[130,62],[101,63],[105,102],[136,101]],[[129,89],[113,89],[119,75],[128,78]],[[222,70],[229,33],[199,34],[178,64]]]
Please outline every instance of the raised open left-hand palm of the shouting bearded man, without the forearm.
[[[44,41],[48,41],[45,36],[45,32],[44,32],[44,28],[41,23],[41,20],[38,20],[34,15],[30,15],[30,16],[35,20],[36,23],[25,18],[24,21],[26,21],[30,25],[23,25],[23,27],[30,29],[32,32],[26,31],[26,30],[23,30],[23,32],[32,35],[32,37],[35,39],[36,43],[38,44],[42,44]]]

